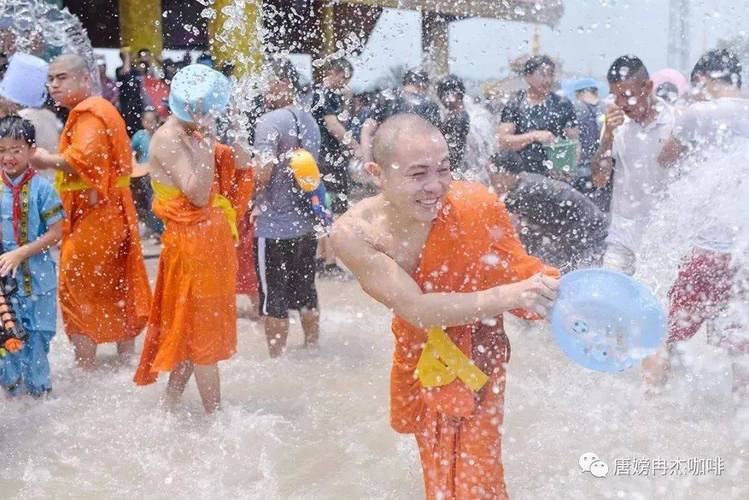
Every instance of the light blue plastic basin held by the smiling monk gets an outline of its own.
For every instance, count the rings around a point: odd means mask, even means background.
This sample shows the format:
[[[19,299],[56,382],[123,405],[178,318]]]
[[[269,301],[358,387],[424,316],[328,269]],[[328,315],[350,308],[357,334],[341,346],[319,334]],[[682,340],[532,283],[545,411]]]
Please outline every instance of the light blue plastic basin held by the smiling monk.
[[[576,363],[618,372],[658,349],[666,335],[666,315],[650,290],[626,274],[581,269],[560,280],[551,329]]]

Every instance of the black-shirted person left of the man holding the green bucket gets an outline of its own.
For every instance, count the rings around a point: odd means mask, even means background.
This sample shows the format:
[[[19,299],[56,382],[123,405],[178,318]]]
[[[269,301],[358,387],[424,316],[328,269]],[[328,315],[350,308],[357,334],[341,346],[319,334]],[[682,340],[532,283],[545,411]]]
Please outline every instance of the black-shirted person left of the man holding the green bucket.
[[[450,155],[450,170],[460,171],[463,168],[463,155],[471,120],[463,105],[466,88],[463,80],[455,75],[447,75],[437,83],[437,97],[447,111],[442,118],[440,130],[447,141]]]

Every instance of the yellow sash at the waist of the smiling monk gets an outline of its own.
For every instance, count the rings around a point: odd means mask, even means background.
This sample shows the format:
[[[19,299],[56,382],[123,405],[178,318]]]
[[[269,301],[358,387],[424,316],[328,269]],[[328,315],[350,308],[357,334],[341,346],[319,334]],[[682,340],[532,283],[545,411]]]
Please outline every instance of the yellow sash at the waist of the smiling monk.
[[[489,380],[442,328],[427,331],[427,342],[416,364],[415,376],[424,387],[447,385],[459,378],[473,392],[481,390]]]

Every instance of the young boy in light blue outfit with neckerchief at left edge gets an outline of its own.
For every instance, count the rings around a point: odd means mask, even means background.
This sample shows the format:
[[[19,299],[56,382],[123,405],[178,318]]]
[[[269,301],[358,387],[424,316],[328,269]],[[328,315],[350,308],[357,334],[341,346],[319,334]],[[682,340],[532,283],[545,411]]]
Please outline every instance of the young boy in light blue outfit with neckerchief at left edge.
[[[47,354],[57,319],[57,271],[49,249],[62,236],[62,203],[52,184],[29,167],[34,126],[11,115],[0,119],[0,276],[18,283],[16,314],[28,336],[17,353],[0,360],[0,385],[11,394],[49,392]]]

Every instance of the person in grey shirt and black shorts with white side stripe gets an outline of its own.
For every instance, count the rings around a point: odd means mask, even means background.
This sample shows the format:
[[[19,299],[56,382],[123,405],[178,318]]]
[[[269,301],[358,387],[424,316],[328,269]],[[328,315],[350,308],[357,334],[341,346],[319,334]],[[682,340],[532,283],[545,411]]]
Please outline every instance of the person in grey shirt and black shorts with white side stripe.
[[[264,95],[269,111],[255,127],[255,264],[259,308],[271,357],[283,353],[289,310],[298,310],[305,346],[315,346],[319,312],[315,288],[315,217],[289,168],[290,153],[318,159],[320,130],[299,104],[299,76],[287,59],[272,59]]]

